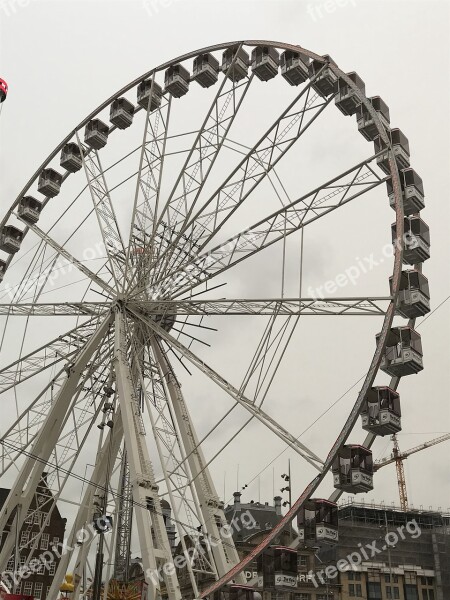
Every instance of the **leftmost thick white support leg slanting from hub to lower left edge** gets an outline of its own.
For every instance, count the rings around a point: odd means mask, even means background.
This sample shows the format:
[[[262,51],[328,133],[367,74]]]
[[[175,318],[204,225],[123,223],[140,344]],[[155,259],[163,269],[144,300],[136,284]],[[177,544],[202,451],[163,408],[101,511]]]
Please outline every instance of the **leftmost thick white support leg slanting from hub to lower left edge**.
[[[108,316],[103,321],[67,369],[67,379],[61,386],[60,392],[56,396],[55,402],[30,451],[30,455],[26,458],[19,476],[0,510],[0,533],[4,531],[7,525],[10,525],[11,531],[15,530],[16,526],[19,530],[22,528],[47,461],[58,442],[62,424],[67,411],[70,410],[81,374],[107,333],[111,320],[112,316]],[[6,569],[14,543],[14,535],[7,535],[0,552],[0,572]]]

